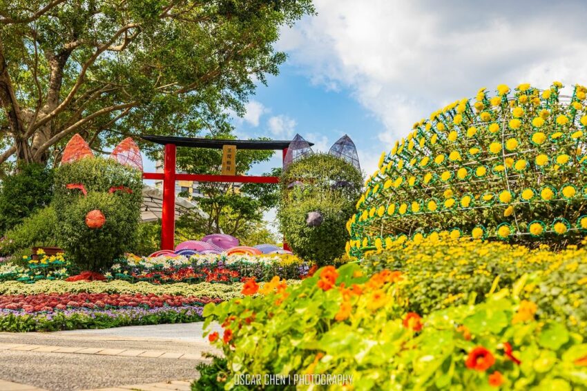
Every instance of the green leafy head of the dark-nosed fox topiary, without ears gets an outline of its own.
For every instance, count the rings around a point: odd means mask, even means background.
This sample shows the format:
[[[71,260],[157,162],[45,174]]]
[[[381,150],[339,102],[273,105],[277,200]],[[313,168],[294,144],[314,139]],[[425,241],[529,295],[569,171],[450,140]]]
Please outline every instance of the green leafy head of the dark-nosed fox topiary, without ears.
[[[282,174],[280,230],[303,259],[331,263],[344,252],[345,221],[360,194],[361,173],[328,154],[296,161]]]

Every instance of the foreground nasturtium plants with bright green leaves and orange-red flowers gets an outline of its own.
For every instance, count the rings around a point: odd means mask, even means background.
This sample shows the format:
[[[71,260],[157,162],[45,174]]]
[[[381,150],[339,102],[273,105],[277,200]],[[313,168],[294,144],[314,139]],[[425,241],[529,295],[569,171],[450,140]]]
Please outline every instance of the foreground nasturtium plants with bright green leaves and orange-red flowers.
[[[225,388],[241,373],[344,374],[358,391],[490,390],[495,372],[504,389],[587,386],[584,329],[535,320],[515,289],[419,317],[403,310],[411,290],[401,275],[360,274],[354,263],[327,267],[285,290],[276,285],[264,295],[206,305],[204,325],[224,325],[214,344],[227,360],[218,368],[226,368]],[[470,358],[479,348],[493,360],[477,361],[476,370]]]

